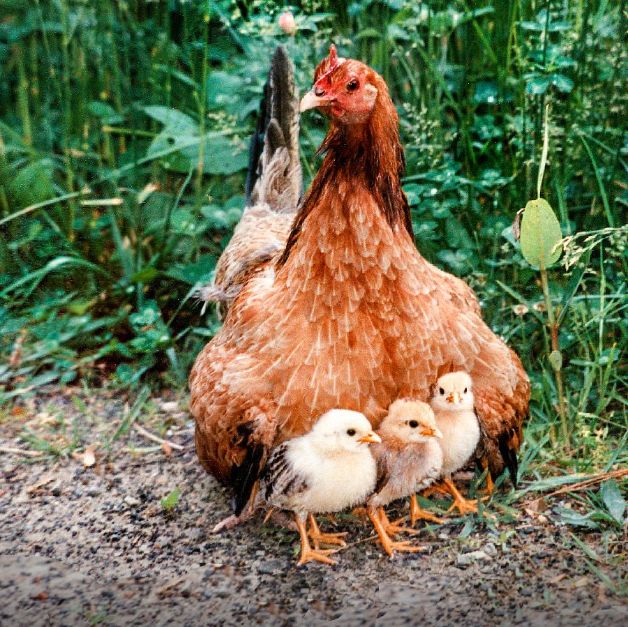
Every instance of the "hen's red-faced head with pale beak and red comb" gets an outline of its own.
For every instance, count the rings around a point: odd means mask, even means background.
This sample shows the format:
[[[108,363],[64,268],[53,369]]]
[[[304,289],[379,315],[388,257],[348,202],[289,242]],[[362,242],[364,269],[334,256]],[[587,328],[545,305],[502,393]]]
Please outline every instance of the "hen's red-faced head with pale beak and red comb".
[[[301,100],[299,109],[301,113],[320,109],[345,124],[364,122],[373,113],[382,86],[386,89],[374,70],[360,61],[338,56],[336,46],[331,44],[329,56],[318,64],[312,89]]]

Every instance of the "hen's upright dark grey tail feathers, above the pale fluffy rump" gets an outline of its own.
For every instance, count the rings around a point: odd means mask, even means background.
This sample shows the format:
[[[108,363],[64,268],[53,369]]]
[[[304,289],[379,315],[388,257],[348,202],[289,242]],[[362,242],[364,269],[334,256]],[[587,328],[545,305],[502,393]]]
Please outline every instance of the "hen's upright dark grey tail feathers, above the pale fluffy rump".
[[[246,206],[264,202],[278,213],[296,213],[302,191],[299,99],[292,62],[285,48],[278,46],[251,138]]]

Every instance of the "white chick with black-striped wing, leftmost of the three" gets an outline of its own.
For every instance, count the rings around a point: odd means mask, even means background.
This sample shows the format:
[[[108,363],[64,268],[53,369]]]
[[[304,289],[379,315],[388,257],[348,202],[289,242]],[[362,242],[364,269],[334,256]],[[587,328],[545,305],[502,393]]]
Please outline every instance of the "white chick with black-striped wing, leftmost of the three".
[[[337,512],[364,503],[377,478],[368,444],[380,441],[364,414],[331,409],[306,435],[284,442],[271,453],[260,476],[259,494],[271,507],[294,513],[301,536],[299,564],[311,560],[336,564],[329,557],[334,551],[319,550],[318,545],[343,546],[345,534],[323,534],[315,513]]]

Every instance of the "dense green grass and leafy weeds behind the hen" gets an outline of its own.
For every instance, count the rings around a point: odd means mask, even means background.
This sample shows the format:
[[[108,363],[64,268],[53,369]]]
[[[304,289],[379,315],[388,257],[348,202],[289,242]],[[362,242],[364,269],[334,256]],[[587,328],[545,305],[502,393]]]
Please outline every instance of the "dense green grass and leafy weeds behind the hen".
[[[530,373],[522,474],[625,464],[627,26],[624,0],[4,0],[0,403],[51,382],[184,389],[219,325],[191,294],[241,215],[271,52],[303,91],[333,41],[398,105],[419,249]],[[546,105],[541,195],[567,239],[541,276],[512,224]],[[326,123],[302,125],[307,184]],[[621,529],[621,488],[567,520]]]

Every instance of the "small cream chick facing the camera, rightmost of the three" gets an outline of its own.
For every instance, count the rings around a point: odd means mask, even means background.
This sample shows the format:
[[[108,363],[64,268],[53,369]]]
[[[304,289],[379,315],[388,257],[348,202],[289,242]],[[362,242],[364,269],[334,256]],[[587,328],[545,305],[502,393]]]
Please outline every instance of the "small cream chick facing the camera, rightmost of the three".
[[[477,499],[465,499],[451,481],[451,475],[472,458],[480,439],[471,387],[471,377],[466,372],[442,375],[436,382],[431,401],[436,425],[442,432],[442,481],[454,497],[450,509],[457,507],[461,514],[477,512]]]

